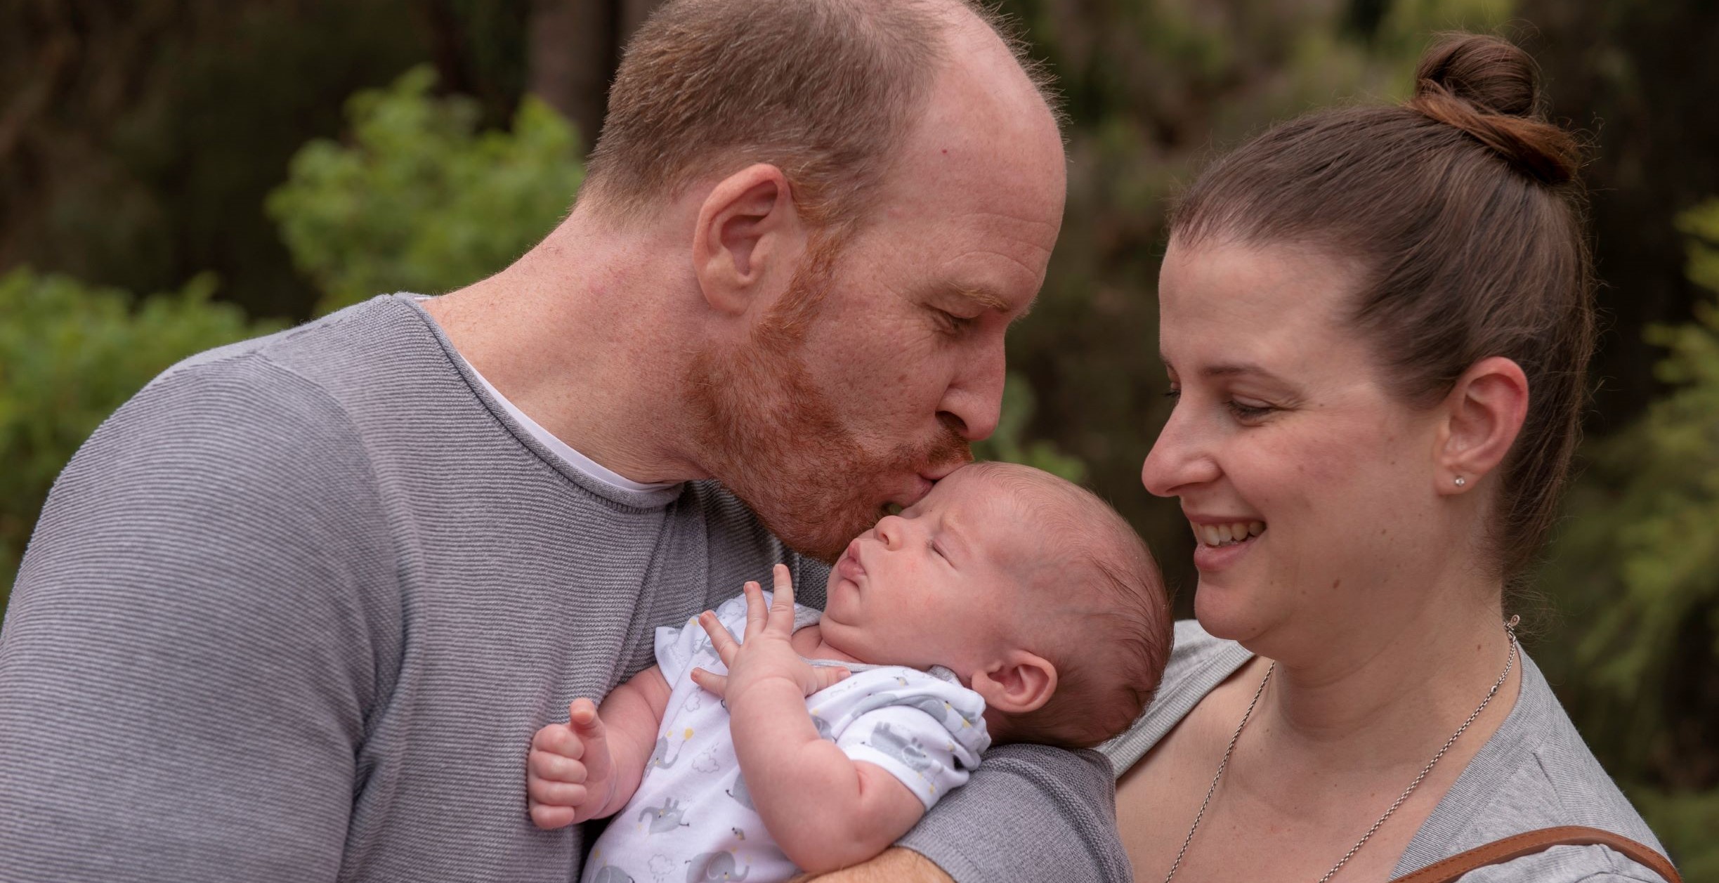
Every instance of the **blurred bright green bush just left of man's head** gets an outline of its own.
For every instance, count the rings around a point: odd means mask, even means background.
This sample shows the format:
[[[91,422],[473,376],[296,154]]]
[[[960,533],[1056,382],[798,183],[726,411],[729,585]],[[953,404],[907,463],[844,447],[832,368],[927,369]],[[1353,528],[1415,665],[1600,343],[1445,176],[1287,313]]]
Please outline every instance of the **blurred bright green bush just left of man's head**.
[[[430,94],[414,67],[347,103],[351,143],[311,141],[292,156],[268,215],[318,313],[380,292],[440,294],[524,254],[572,204],[584,179],[579,139],[526,96],[512,131],[478,131],[471,98]]]

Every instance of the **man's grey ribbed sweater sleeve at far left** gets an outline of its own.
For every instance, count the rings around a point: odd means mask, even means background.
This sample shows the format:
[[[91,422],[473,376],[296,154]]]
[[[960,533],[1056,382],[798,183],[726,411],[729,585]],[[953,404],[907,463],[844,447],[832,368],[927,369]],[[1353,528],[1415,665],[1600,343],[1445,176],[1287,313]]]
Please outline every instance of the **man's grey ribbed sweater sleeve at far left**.
[[[333,880],[397,649],[382,526],[346,416],[261,356],[110,417],[0,630],[0,880]]]

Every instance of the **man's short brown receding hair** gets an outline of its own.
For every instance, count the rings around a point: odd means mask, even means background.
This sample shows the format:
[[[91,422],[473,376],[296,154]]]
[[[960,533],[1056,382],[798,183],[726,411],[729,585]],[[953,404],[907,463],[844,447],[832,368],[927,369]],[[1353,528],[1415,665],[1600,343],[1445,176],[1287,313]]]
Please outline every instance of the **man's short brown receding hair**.
[[[971,0],[664,3],[615,72],[581,199],[636,215],[705,175],[772,163],[813,227],[861,218],[961,9],[1004,40],[1049,103],[1025,43]]]

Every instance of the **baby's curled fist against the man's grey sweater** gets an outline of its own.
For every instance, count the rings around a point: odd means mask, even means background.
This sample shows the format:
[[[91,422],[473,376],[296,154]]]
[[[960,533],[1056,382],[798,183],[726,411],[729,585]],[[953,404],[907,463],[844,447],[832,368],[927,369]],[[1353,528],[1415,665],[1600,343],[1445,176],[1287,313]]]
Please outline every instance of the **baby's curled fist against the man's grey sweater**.
[[[566,828],[596,818],[614,794],[615,764],[596,704],[574,699],[567,723],[550,723],[531,739],[526,756],[531,821],[547,831]]]

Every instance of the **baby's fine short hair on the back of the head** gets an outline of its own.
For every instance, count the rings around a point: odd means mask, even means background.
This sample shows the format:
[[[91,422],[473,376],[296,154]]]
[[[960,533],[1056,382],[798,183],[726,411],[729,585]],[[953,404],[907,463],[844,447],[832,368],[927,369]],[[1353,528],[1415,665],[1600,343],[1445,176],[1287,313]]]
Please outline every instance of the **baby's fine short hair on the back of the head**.
[[[1152,701],[1171,655],[1171,608],[1152,551],[1098,495],[1049,472],[1007,462],[968,466],[1014,491],[1043,543],[1028,579],[1031,648],[1057,668],[1057,689],[1035,711],[1011,715],[999,742],[1092,747]]]

